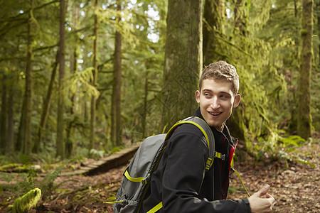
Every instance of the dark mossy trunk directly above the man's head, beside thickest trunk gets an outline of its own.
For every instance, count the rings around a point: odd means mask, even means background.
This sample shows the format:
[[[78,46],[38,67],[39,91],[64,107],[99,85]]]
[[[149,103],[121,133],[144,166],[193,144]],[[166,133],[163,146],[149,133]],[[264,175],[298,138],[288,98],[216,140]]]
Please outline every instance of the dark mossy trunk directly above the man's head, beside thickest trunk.
[[[206,0],[203,13],[203,64],[209,65],[211,62],[225,60],[218,40],[218,33],[223,34],[223,1]]]

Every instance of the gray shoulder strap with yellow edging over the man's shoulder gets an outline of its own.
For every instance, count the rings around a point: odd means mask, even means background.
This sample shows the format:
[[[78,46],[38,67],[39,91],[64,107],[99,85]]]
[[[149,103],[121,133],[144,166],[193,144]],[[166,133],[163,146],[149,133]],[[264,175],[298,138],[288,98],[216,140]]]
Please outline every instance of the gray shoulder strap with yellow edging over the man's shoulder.
[[[210,126],[208,126],[207,122],[203,119],[196,116],[191,116],[176,122],[176,124],[174,124],[174,126],[172,126],[166,134],[166,139],[170,138],[172,133],[174,133],[176,127],[180,126],[181,124],[193,124],[194,126],[198,127],[198,129],[202,131],[203,136],[205,136],[209,149],[209,157],[206,163],[206,171],[208,171],[213,165],[213,160],[215,158],[215,138],[213,136],[213,132],[210,129]]]

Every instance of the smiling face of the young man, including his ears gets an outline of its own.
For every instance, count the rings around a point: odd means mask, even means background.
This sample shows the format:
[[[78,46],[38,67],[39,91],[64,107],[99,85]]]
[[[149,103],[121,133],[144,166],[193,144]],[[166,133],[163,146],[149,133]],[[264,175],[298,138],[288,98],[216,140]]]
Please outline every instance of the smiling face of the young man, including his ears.
[[[218,131],[223,131],[233,107],[238,107],[240,103],[240,94],[235,95],[232,90],[231,82],[206,79],[202,82],[201,91],[196,91],[196,100],[200,104],[203,119]]]

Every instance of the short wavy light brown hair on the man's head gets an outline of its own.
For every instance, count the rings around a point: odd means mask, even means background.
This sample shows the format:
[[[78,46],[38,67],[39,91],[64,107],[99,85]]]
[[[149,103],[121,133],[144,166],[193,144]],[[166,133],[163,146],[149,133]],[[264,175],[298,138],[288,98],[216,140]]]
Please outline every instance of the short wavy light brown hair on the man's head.
[[[233,65],[220,60],[214,62],[203,70],[199,80],[199,89],[201,90],[202,82],[206,79],[227,80],[233,83],[233,94],[238,94],[239,91],[239,75]]]

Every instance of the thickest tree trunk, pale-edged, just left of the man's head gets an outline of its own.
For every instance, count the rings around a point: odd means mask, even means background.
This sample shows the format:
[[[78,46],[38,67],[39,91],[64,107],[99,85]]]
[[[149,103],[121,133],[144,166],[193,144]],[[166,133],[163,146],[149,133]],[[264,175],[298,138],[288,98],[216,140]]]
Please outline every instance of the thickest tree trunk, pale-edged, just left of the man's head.
[[[202,70],[202,0],[169,0],[166,32],[162,124],[170,127],[197,108],[194,92]]]

